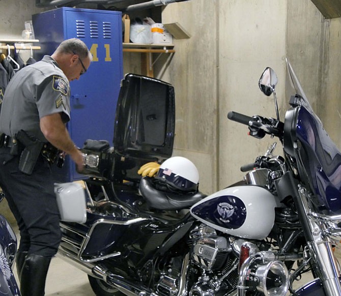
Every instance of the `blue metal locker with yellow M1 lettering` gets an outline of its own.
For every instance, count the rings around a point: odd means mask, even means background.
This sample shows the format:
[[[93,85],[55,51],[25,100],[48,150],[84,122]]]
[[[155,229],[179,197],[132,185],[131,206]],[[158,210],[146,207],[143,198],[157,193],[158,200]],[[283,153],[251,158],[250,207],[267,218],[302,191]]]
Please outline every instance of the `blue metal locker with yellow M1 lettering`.
[[[82,147],[87,139],[112,143],[113,126],[120,81],[123,78],[121,12],[94,9],[58,8],[32,17],[35,36],[42,50],[41,60],[52,54],[65,39],[79,38],[93,54],[89,71],[71,86],[71,121],[68,130],[72,140]],[[57,180],[82,179],[67,157],[63,169],[54,170]]]

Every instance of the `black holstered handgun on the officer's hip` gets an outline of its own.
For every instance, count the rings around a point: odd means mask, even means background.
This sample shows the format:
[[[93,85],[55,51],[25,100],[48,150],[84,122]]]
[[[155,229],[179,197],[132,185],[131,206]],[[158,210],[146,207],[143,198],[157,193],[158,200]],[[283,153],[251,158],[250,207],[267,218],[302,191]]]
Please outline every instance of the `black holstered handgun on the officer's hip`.
[[[44,142],[27,135],[23,130],[16,134],[16,139],[24,146],[24,150],[20,154],[19,170],[30,175],[37,163]]]

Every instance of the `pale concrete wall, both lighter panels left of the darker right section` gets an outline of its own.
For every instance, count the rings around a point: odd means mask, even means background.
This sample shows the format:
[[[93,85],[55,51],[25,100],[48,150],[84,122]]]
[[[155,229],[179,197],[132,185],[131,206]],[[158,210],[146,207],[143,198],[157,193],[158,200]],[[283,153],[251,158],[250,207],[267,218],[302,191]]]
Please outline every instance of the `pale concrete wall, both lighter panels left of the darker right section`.
[[[164,9],[162,22],[175,21],[192,34],[175,40],[175,56],[160,77],[176,89],[175,154],[196,164],[201,190],[212,193],[240,180],[239,167],[273,141],[248,137],[247,127],[226,115],[275,116],[273,99],[260,92],[258,79],[273,67],[283,95],[287,1],[192,0]]]

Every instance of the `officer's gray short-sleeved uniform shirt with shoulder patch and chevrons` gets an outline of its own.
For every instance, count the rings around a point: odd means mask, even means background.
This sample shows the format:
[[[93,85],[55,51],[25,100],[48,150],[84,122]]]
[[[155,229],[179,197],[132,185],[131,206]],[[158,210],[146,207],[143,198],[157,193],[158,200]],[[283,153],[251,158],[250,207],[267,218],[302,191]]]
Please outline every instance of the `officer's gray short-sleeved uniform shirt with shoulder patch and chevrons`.
[[[40,119],[54,113],[61,113],[64,123],[70,120],[70,84],[53,58],[45,55],[10,80],[0,113],[0,131],[13,136],[22,129],[46,142]]]

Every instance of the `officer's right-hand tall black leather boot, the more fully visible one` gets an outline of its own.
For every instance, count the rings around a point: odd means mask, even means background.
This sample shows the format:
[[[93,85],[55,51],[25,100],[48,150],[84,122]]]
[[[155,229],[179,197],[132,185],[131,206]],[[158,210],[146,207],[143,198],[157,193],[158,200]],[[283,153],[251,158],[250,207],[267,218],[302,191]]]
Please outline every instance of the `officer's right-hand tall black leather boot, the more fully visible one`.
[[[20,274],[22,296],[44,296],[45,280],[51,257],[28,254]]]

